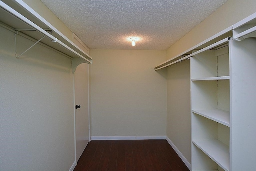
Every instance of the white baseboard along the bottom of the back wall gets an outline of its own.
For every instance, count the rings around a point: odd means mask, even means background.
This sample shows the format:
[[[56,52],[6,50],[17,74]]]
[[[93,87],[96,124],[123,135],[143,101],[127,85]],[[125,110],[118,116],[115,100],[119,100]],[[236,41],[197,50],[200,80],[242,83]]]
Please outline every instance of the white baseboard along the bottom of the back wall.
[[[92,140],[166,139],[166,136],[91,136]]]

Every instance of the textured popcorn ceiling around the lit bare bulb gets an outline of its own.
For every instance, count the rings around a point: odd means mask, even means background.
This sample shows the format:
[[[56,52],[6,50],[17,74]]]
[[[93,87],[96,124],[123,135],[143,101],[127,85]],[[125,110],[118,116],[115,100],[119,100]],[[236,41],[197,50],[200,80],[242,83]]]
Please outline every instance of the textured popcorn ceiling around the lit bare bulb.
[[[227,0],[41,1],[90,49],[166,50]]]

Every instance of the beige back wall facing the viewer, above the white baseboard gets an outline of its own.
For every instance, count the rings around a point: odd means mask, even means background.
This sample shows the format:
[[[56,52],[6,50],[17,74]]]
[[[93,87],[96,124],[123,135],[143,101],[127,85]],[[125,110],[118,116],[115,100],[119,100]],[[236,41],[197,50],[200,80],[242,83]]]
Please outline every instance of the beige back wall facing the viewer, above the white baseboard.
[[[92,136],[166,135],[166,51],[90,50]]]

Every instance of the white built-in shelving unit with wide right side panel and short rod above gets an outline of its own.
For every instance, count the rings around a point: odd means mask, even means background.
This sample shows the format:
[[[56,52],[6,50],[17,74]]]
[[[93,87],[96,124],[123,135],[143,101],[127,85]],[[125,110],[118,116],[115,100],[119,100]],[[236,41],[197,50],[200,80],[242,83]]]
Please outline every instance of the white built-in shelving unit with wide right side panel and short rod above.
[[[235,24],[228,44],[190,57],[192,171],[256,168],[255,18]]]

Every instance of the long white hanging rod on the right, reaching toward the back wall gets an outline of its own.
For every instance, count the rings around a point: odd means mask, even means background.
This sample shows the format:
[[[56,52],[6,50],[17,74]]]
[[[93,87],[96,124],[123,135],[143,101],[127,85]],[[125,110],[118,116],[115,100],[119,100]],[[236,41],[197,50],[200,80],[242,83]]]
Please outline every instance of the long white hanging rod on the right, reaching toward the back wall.
[[[231,37],[227,37],[227,38],[225,38],[225,39],[222,39],[222,40],[220,40],[220,41],[218,41],[218,42],[216,42],[216,43],[214,43],[214,44],[211,44],[210,46],[207,46],[207,47],[205,47],[205,48],[203,48],[203,49],[200,49],[200,50],[198,50],[198,51],[196,51],[196,52],[194,52],[194,53],[192,53],[192,54],[190,54],[190,55],[188,55],[188,56],[185,56],[185,57],[183,57],[183,58],[180,58],[180,59],[178,59],[178,60],[176,60],[176,61],[174,61],[174,62],[172,62],[172,63],[170,63],[170,64],[167,64],[167,65],[165,65],[165,66],[156,68],[155,71],[156,71],[156,70],[160,70],[160,69],[162,69],[162,68],[166,68],[166,67],[171,66],[171,65],[173,65],[173,64],[176,64],[177,62],[181,62],[182,60],[185,60],[185,59],[187,59],[187,58],[190,58],[191,56],[194,56],[194,55],[196,55],[196,54],[202,53],[202,52],[204,52],[204,51],[206,51],[206,50],[210,50],[210,49],[212,49],[212,48],[215,48],[215,47],[217,47],[217,46],[220,46],[220,45],[222,45],[222,44],[225,44],[226,42],[229,42],[230,39],[231,39]]]

